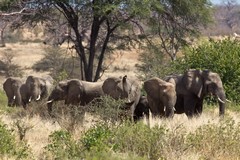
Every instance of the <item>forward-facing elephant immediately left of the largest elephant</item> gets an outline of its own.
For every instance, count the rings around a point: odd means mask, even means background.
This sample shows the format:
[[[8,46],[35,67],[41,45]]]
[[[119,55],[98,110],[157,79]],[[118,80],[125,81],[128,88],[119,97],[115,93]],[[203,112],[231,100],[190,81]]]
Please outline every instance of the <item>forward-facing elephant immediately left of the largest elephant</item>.
[[[166,82],[158,77],[153,77],[146,80],[143,87],[147,93],[152,115],[173,118],[174,105],[177,101],[175,81],[171,79]]]

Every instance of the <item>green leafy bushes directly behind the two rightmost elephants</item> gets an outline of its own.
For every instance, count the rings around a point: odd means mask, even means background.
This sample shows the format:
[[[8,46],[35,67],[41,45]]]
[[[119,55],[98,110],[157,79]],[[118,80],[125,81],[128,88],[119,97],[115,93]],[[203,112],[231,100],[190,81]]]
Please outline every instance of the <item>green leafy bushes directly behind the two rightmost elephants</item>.
[[[186,47],[176,61],[161,56],[159,51],[147,49],[141,56],[143,79],[152,76],[164,78],[184,73],[188,69],[208,69],[220,75],[228,99],[240,102],[240,41],[225,39],[205,41],[197,47]]]

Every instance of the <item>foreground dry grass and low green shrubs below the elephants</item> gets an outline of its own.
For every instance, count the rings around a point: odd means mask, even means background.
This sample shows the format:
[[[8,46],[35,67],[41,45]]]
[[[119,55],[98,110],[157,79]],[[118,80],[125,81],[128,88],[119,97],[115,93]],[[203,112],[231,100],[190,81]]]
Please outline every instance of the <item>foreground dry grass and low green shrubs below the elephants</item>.
[[[47,116],[46,104],[40,102],[30,104],[27,110],[13,108],[14,112],[1,112],[1,120],[11,128],[15,139],[20,141],[20,136],[23,136],[35,159],[194,160],[240,157],[239,113],[229,110],[229,107],[224,119],[219,118],[216,106],[205,104],[199,118],[188,119],[184,114],[175,115],[173,119],[151,118],[148,126],[145,119],[137,123],[118,119],[112,115],[117,113],[109,107],[114,104],[119,109],[121,102],[103,100],[105,102],[96,105],[97,108],[93,107],[94,103],[85,106],[90,108],[84,110],[83,119],[80,117],[81,106],[67,107],[57,103],[53,110],[56,116],[51,118]],[[0,109],[4,109],[2,105]],[[93,122],[93,119],[97,121]],[[6,157],[11,158],[11,155]],[[31,159],[31,154],[25,158]]]

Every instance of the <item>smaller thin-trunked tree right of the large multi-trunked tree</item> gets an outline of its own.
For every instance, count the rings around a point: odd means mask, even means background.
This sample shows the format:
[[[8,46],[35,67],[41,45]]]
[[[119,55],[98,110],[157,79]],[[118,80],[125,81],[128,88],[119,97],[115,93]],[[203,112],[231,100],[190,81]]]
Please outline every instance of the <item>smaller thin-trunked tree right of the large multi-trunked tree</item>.
[[[176,60],[187,38],[198,36],[200,28],[211,22],[212,5],[208,0],[160,0],[161,7],[153,7],[149,18],[152,35],[160,41],[150,41],[158,51]],[[154,39],[153,39],[154,40]]]

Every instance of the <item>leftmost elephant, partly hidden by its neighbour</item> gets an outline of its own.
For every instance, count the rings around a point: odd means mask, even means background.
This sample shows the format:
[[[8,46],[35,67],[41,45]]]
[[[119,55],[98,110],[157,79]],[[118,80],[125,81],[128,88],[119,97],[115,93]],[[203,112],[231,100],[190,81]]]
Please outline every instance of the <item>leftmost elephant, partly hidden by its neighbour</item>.
[[[9,77],[3,83],[3,89],[8,97],[8,106],[21,106],[20,87],[23,81],[16,77]]]

